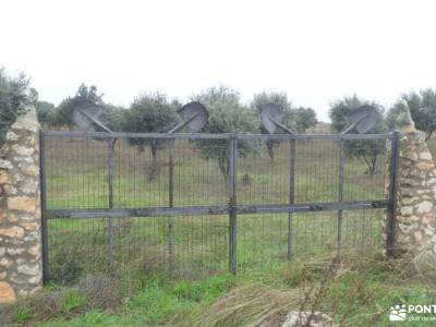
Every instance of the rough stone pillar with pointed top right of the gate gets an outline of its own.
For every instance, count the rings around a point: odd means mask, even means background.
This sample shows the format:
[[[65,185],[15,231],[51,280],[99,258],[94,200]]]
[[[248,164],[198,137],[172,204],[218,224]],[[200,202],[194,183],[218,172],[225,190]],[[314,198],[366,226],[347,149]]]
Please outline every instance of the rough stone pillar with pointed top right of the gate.
[[[416,131],[409,107],[397,118],[400,134],[395,255],[409,258],[420,270],[436,267],[436,169],[425,142]]]

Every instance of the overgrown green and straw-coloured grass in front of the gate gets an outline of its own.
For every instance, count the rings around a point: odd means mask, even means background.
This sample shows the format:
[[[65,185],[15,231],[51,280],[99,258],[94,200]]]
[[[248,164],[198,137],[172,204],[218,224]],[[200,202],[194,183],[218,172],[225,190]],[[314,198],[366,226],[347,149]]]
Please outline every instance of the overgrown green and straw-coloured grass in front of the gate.
[[[114,305],[98,302],[108,298],[108,291],[96,300],[92,295],[98,294],[96,290],[89,291],[93,288],[84,288],[81,281],[78,287],[46,288],[39,299],[9,306],[8,311],[0,308],[0,315],[11,325],[41,327],[237,327],[261,323],[280,326],[291,310],[314,310],[330,315],[338,326],[389,326],[391,305],[436,300],[433,281],[408,275],[399,263],[374,254],[346,254],[341,262],[335,261],[335,270],[331,267],[329,256],[239,276],[220,272],[180,279],[157,272],[120,275],[111,277],[112,282],[105,288],[96,288],[100,292],[106,288],[121,290]],[[47,311],[47,303],[56,305]],[[429,326],[414,322],[401,325]]]

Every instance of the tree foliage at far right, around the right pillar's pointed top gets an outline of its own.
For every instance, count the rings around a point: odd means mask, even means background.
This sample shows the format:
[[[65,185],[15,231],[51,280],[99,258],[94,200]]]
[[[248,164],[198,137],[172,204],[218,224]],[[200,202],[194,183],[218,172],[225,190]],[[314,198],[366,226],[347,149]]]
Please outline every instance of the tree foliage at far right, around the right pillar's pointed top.
[[[411,92],[401,96],[409,108],[416,129],[425,132],[428,140],[436,130],[436,89],[422,89],[420,93]],[[400,102],[390,108],[387,116],[387,123],[390,129],[395,128],[395,120],[398,116]]]

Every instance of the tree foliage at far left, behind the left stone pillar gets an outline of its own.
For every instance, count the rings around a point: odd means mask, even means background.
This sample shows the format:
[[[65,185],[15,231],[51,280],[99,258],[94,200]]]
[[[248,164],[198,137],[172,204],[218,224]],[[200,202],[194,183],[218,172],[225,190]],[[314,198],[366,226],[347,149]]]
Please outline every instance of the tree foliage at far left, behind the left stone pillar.
[[[0,68],[0,147],[5,141],[9,126],[19,114],[25,112],[27,87],[28,78],[24,74],[11,77]]]

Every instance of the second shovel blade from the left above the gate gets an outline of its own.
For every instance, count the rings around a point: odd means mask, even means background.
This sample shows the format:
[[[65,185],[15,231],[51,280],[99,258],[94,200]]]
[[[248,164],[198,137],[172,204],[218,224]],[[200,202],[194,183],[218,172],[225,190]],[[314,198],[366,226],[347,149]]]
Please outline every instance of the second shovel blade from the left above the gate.
[[[192,132],[201,131],[209,120],[209,113],[207,112],[205,106],[201,102],[190,102],[184,105],[179,109],[179,116],[182,119],[182,122],[173,128],[168,133],[177,133],[182,128],[187,126]]]

